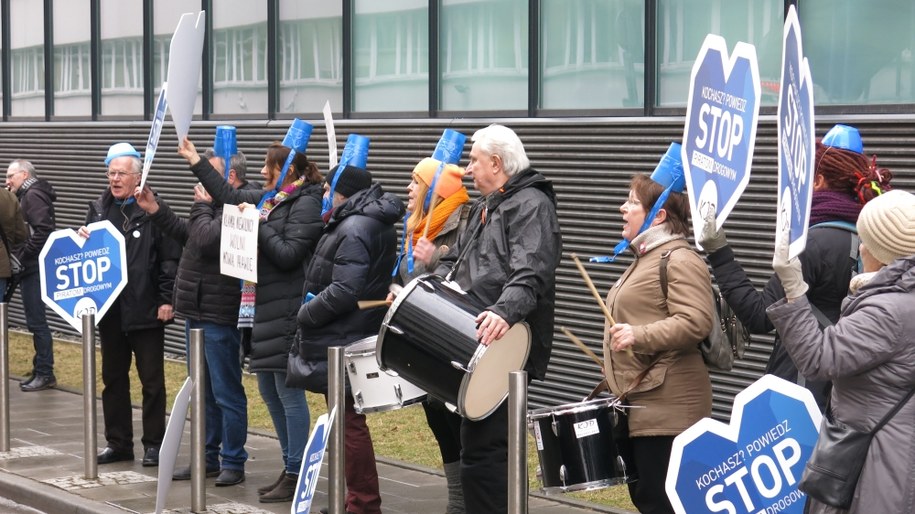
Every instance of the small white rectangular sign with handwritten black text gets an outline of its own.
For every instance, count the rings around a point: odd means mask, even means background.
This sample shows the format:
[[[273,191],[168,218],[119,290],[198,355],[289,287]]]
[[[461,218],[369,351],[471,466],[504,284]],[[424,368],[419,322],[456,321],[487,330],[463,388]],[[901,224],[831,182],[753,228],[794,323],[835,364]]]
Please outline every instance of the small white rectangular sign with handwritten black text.
[[[244,211],[236,205],[222,209],[222,236],[219,239],[219,272],[248,282],[257,282],[257,209]]]

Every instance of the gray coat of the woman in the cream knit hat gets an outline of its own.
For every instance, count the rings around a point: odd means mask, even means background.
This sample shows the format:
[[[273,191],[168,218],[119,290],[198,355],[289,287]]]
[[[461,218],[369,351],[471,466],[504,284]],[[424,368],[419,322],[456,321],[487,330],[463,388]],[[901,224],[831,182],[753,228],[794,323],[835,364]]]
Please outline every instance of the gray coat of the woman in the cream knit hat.
[[[915,386],[915,256],[849,296],[822,333],[806,298],[767,309],[798,369],[833,381],[835,417],[872,429]],[[811,512],[842,512],[811,499]],[[915,512],[915,399],[877,432],[849,512]]]

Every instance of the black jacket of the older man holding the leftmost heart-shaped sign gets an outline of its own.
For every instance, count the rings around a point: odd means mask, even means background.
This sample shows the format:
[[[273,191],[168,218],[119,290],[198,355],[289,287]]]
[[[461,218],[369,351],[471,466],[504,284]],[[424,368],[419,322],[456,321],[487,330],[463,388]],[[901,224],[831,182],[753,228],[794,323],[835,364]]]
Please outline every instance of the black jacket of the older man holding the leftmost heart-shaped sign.
[[[165,202],[159,200],[159,204]],[[159,307],[172,304],[181,247],[152,223],[136,202],[127,204],[123,212],[126,225],[121,210],[114,205],[111,190],[106,189],[101,197],[89,202],[86,215],[87,225],[109,220],[124,235],[127,286],[111,309],[119,310],[123,332],[158,328],[163,324],[158,319]]]

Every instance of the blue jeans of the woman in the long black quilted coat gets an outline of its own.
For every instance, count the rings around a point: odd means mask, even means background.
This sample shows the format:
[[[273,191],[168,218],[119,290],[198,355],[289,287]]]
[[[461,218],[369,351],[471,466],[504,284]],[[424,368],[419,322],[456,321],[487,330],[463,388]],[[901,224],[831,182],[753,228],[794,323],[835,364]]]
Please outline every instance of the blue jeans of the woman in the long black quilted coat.
[[[257,372],[257,387],[273,419],[286,473],[298,475],[311,423],[305,390],[286,387],[286,373],[271,371]]]

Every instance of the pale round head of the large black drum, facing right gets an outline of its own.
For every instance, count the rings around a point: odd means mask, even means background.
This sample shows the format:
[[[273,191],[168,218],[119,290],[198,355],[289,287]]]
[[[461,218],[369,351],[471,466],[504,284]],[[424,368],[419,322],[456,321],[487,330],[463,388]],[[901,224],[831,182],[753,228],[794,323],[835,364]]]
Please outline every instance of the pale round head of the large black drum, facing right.
[[[492,414],[508,397],[508,376],[527,362],[531,349],[531,332],[527,323],[519,322],[508,333],[480,350],[470,363],[471,372],[464,376],[458,398],[459,410],[471,421]]]

